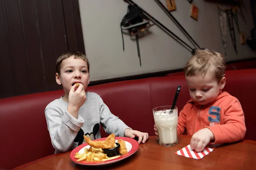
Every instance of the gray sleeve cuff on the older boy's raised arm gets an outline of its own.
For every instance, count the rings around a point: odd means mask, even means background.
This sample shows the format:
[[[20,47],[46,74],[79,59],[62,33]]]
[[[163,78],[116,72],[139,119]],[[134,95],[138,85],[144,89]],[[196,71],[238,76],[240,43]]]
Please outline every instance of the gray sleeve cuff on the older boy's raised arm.
[[[84,119],[80,115],[78,115],[76,119],[70,113],[68,113],[67,110],[62,116],[61,121],[75,131],[79,131],[81,126],[84,124]]]

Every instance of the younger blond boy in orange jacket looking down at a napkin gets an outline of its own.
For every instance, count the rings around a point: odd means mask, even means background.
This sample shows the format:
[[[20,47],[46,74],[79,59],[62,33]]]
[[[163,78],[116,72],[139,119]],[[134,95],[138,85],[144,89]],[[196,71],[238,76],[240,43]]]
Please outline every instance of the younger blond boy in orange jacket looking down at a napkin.
[[[208,49],[198,50],[184,66],[191,99],[180,111],[177,132],[192,135],[190,146],[196,152],[209,142],[231,143],[244,138],[241,104],[236,97],[221,91],[226,83],[225,67],[224,57]],[[158,139],[155,125],[154,130]]]

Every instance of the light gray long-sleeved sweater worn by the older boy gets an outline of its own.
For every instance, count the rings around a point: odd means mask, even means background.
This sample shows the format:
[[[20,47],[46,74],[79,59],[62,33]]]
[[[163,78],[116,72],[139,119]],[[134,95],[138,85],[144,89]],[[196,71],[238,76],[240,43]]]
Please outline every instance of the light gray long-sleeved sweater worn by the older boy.
[[[124,136],[124,130],[130,128],[114,116],[102,98],[86,92],[86,101],[79,109],[78,118],[67,112],[68,103],[61,98],[50,102],[45,108],[47,127],[55,153],[66,152],[84,143],[83,135],[92,140],[101,138],[100,124],[106,133]]]

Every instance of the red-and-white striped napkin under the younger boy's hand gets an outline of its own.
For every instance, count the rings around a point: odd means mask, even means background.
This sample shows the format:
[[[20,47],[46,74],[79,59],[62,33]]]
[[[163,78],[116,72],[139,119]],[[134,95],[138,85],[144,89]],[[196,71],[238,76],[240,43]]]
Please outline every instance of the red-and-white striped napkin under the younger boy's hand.
[[[202,159],[204,156],[208,155],[210,152],[212,152],[214,148],[205,147],[203,151],[196,152],[191,149],[190,144],[186,147],[183,147],[181,150],[178,150],[175,152],[177,155],[180,156],[186,156],[188,158],[194,158],[194,159]]]

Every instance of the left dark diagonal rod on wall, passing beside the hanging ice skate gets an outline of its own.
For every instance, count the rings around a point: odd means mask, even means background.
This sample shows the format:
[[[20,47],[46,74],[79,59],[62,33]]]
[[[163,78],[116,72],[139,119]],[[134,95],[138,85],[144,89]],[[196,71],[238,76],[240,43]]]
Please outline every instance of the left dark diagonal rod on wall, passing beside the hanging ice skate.
[[[143,13],[154,23],[156,24],[159,28],[163,29],[163,31],[168,32],[169,34],[171,34],[173,37],[176,38],[176,40],[178,42],[182,42],[184,45],[186,45],[187,48],[189,48],[189,50],[193,50],[192,47],[190,47],[186,42],[184,42],[183,40],[180,39],[180,37],[178,37],[177,35],[175,35],[171,30],[169,30],[168,28],[166,28],[166,26],[164,26],[162,23],[160,23],[158,20],[156,20],[154,17],[152,17],[150,14],[148,14],[145,10],[143,10],[143,8],[140,8],[140,6],[138,6],[136,3],[134,3],[132,0],[124,0],[125,2],[136,6],[137,8],[139,8],[141,11],[143,11]]]

